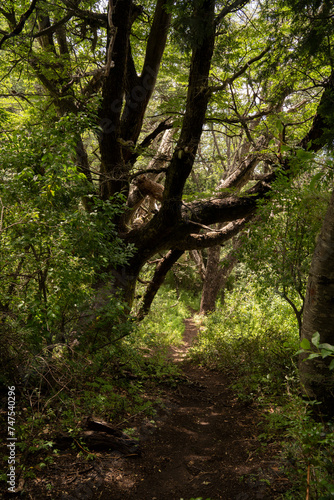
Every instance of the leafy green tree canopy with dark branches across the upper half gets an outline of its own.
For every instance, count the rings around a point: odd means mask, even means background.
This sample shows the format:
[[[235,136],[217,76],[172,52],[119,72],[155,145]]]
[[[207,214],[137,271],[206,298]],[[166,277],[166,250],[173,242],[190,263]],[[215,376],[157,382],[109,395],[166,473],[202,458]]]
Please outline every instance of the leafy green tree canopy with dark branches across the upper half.
[[[310,182],[329,175],[330,2],[8,0],[0,16],[2,185],[28,203],[14,222],[3,198],[6,232],[65,198],[69,217],[104,214],[131,252],[93,281],[112,274],[129,305],[157,253],[161,281],[238,234],[277,179],[315,158]]]

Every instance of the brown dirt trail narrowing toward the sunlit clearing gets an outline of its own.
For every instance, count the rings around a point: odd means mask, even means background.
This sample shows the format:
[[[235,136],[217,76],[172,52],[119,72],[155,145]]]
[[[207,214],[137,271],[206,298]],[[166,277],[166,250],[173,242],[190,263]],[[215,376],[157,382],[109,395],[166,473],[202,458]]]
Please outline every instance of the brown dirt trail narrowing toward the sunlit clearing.
[[[184,381],[170,391],[155,428],[143,429],[142,457],[123,468],[133,484],[120,481],[115,500],[269,500],[287,486],[276,450],[257,454],[259,415],[238,402],[225,375],[185,359],[197,333],[185,320],[183,345],[169,355],[181,363]]]

